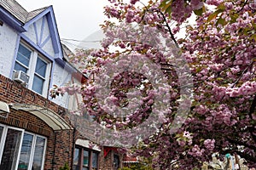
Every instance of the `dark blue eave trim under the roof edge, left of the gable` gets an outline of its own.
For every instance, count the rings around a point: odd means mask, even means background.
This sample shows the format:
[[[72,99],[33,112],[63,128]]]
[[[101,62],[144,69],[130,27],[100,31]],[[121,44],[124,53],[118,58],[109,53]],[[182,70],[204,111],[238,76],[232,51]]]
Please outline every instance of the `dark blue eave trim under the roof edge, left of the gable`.
[[[23,24],[20,22],[20,20],[17,20],[12,14],[9,14],[9,12],[2,7],[0,7],[0,19],[18,32],[26,31],[22,27]]]

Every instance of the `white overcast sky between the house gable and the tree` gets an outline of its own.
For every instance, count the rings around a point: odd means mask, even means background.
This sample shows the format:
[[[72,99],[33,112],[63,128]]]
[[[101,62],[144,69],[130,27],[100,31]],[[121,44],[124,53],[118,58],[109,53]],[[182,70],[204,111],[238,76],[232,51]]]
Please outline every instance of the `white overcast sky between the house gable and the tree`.
[[[53,5],[59,35],[62,38],[84,40],[100,30],[106,20],[103,7],[108,0],[16,0],[27,11]],[[87,38],[86,38],[87,39]],[[72,41],[70,41],[72,42]],[[79,44],[79,42],[73,42]],[[86,47],[85,47],[86,48]]]

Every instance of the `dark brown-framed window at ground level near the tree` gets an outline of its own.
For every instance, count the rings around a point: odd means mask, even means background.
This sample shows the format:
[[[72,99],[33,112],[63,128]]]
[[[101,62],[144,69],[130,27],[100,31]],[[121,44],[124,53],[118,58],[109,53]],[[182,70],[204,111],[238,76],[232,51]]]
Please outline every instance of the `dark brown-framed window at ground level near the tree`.
[[[73,170],[97,170],[99,153],[76,146],[73,156]]]

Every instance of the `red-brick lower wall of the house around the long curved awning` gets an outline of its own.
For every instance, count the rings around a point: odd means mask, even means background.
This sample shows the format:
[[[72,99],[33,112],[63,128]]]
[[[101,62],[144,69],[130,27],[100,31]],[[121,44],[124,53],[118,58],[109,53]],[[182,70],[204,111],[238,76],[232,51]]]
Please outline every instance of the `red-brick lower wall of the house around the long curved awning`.
[[[25,103],[47,107],[51,111],[68,118],[65,109],[60,105],[44,99],[42,96],[24,88],[19,83],[0,75],[0,100],[6,103]],[[59,170],[67,162],[73,161],[73,130],[53,131],[44,121],[26,111],[10,110],[8,118],[0,118],[0,123],[12,127],[20,127],[28,132],[47,137],[47,150],[44,170]]]

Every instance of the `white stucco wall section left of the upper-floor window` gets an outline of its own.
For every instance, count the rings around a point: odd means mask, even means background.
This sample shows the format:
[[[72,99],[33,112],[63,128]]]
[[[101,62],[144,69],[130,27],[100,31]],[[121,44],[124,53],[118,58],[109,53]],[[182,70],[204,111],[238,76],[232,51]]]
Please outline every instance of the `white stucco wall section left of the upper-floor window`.
[[[3,23],[3,26],[0,26],[0,74],[5,77],[10,76],[17,39],[17,32],[11,27],[5,23]]]

